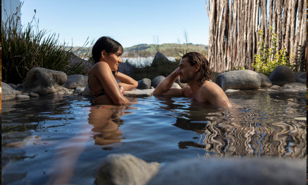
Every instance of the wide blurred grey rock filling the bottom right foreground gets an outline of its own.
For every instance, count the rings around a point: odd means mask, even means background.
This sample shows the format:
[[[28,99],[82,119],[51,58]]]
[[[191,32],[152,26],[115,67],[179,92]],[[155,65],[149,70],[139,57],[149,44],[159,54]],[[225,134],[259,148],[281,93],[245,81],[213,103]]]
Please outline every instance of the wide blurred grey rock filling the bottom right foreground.
[[[197,158],[162,166],[147,185],[297,185],[305,182],[304,160]]]

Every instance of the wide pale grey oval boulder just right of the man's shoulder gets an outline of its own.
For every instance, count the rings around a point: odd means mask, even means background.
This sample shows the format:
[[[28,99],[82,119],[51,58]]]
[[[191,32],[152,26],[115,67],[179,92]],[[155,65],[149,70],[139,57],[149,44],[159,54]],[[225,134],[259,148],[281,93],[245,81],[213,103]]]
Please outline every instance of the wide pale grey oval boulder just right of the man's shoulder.
[[[252,90],[261,86],[261,76],[247,69],[228,71],[218,75],[215,83],[224,91],[227,89]]]

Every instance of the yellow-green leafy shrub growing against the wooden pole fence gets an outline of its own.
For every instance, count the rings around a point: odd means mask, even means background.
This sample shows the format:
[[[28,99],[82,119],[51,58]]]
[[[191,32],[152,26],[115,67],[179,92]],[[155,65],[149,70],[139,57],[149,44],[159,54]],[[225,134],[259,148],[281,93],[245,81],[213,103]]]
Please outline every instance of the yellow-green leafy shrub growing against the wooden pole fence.
[[[272,27],[271,30],[273,31]],[[279,52],[276,53],[277,35],[272,33],[272,48],[268,48],[267,44],[264,42],[264,33],[262,30],[259,31],[259,35],[261,38],[261,42],[258,42],[260,54],[254,55],[254,63],[252,64],[253,68],[255,68],[257,72],[263,73],[266,76],[270,76],[270,73],[273,72],[278,65],[287,65],[292,68],[285,50],[279,50]]]

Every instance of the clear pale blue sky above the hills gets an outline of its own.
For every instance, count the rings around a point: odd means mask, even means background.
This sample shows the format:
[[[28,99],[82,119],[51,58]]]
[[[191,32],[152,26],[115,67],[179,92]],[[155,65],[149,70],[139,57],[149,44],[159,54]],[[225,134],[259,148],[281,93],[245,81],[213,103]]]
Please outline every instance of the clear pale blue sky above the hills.
[[[209,43],[209,17],[204,0],[24,0],[22,25],[32,20],[36,9],[39,29],[59,34],[59,40],[81,46],[89,36],[95,41],[110,36],[123,47],[152,44],[153,35],[159,43]]]

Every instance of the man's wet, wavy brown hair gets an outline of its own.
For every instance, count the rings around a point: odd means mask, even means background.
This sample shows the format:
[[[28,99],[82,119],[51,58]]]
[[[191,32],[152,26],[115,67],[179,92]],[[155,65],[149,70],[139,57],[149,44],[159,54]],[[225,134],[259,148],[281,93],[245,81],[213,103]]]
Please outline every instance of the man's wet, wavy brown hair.
[[[205,80],[210,80],[212,70],[209,68],[209,61],[206,60],[205,56],[198,52],[189,52],[182,56],[182,59],[188,57],[189,63],[194,66],[200,64],[200,68],[197,71],[197,83],[201,85]]]

